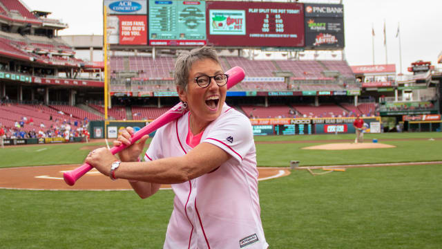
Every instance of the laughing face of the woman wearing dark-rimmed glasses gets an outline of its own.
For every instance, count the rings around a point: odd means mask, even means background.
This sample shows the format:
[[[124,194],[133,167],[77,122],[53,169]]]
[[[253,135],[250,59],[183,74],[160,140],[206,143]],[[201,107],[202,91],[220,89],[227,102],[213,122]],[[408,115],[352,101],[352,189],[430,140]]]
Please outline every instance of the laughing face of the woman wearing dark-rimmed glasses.
[[[218,118],[222,111],[222,106],[226,100],[227,84],[218,86],[211,78],[209,86],[202,88],[195,82],[195,77],[206,75],[215,76],[224,73],[220,64],[212,59],[202,59],[194,62],[187,82],[187,90],[178,89],[181,100],[187,102],[191,111],[193,121],[211,122]]]

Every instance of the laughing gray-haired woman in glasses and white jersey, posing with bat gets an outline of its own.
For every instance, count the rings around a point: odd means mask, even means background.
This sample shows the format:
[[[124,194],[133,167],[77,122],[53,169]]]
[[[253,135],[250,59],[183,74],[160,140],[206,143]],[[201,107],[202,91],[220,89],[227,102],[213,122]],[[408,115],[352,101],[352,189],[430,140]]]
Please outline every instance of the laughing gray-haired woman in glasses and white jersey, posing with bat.
[[[260,220],[256,150],[249,119],[224,103],[229,77],[213,48],[182,53],[175,84],[189,112],[119,154],[106,148],[86,158],[111,178],[128,179],[142,199],[172,184],[173,212],[164,248],[267,248]],[[129,145],[133,129],[114,142]],[[113,165],[113,166],[112,166]]]

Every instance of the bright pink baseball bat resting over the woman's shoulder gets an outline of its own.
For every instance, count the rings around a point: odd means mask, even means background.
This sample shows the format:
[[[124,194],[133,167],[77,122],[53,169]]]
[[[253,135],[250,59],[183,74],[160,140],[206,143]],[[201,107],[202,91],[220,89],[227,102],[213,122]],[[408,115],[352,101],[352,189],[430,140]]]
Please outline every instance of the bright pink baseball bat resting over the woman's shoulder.
[[[245,76],[244,70],[239,66],[231,68],[229,71],[226,72],[226,74],[229,75],[229,80],[227,81],[227,89],[230,89],[232,86],[238,84],[241,80],[244,79]],[[148,135],[149,133],[152,133],[153,131],[156,131],[158,128],[162,127],[164,124],[180,118],[184,115],[184,113],[186,113],[186,110],[182,108],[182,103],[180,102],[176,104],[175,107],[172,107],[171,109],[169,109],[169,111],[163,113],[162,116],[147,124],[145,127],[140,129],[140,131],[135,132],[132,136],[131,145],[137,142],[137,140],[140,140],[142,136]],[[114,146],[110,150],[112,154],[115,155],[119,151],[126,149],[128,146],[129,145],[119,145],[117,147]],[[66,184],[73,186],[75,184],[75,181],[77,181],[81,176],[84,176],[84,174],[86,174],[86,172],[88,172],[90,169],[93,169],[93,167],[90,166],[88,163],[84,163],[84,165],[77,167],[77,169],[64,172],[64,181],[66,182]]]

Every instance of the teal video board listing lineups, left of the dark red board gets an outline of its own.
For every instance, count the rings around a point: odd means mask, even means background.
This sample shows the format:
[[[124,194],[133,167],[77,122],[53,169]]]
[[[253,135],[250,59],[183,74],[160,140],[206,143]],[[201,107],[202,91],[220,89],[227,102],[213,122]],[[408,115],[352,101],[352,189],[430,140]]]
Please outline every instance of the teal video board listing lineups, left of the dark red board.
[[[149,45],[206,44],[205,1],[149,0]]]

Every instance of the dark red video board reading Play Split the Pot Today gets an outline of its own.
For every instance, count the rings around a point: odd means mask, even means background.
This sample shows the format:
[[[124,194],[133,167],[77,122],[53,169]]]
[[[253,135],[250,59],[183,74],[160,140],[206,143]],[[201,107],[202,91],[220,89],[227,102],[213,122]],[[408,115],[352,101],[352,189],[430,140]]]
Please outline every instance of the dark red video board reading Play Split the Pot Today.
[[[302,3],[207,1],[206,19],[214,46],[304,46]]]

